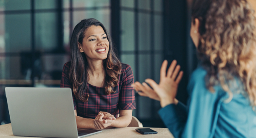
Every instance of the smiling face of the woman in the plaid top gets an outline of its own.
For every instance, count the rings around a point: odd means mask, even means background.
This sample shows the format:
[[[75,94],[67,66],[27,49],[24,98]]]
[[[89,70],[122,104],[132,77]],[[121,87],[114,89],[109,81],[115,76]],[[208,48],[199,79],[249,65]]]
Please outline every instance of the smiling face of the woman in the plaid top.
[[[101,26],[90,26],[79,44],[79,51],[84,52],[87,60],[103,60],[107,58],[109,41]]]

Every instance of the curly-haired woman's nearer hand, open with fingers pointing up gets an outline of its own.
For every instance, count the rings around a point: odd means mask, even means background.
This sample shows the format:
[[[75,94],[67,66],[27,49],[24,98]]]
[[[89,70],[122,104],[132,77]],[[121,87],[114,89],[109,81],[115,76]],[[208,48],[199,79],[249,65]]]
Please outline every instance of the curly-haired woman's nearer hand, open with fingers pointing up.
[[[178,84],[183,76],[183,71],[180,71],[180,65],[176,66],[176,60],[172,61],[166,74],[167,64],[167,60],[165,60],[162,64],[159,84],[154,82],[152,79],[145,80],[145,82],[149,83],[154,89],[154,92],[156,92],[158,95],[162,107],[176,102],[175,97],[178,90]]]

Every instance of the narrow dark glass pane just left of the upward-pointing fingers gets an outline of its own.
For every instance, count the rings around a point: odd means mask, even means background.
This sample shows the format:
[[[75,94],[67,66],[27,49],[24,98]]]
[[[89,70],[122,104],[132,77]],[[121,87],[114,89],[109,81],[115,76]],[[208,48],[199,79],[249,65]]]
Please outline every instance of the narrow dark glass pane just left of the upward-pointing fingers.
[[[154,81],[159,83],[160,80],[160,69],[163,62],[162,54],[154,55]]]

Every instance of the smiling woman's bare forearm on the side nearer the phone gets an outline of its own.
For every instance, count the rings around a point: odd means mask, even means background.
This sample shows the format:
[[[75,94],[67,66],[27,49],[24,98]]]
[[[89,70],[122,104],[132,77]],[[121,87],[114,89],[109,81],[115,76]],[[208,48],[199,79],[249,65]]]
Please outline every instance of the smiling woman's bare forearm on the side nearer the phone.
[[[115,128],[124,128],[127,127],[131,123],[132,115],[123,115],[116,120],[113,120],[111,124],[112,127]]]

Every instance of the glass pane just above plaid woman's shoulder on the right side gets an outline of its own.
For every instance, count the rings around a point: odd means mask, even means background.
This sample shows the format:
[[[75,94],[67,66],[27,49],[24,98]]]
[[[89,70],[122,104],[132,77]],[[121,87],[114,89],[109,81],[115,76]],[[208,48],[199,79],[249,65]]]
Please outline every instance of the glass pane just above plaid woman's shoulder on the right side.
[[[137,79],[135,78],[136,77],[135,55],[134,54],[132,54],[132,55],[122,54],[121,55],[121,62],[131,66],[131,69],[133,70],[134,81],[136,81]]]

